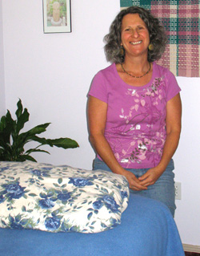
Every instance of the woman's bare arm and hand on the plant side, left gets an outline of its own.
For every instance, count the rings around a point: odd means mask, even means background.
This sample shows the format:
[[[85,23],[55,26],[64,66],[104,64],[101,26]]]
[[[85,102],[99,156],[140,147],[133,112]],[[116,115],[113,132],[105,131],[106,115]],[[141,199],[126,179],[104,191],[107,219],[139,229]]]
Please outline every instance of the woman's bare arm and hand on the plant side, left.
[[[140,185],[140,181],[134,176],[133,173],[126,171],[121,165],[118,164],[118,161],[110,148],[110,144],[107,142],[104,136],[106,116],[107,104],[102,100],[98,100],[97,98],[90,96],[88,100],[88,120],[91,144],[113,173],[121,174],[127,178],[130,189],[146,189],[146,186]]]

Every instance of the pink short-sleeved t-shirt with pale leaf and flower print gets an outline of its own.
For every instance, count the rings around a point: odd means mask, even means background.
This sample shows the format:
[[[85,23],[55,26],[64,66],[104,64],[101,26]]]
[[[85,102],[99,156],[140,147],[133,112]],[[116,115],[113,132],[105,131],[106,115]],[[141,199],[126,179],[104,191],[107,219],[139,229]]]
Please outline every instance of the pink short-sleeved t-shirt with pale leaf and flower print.
[[[89,95],[108,105],[105,137],[123,168],[158,165],[166,140],[166,103],[179,91],[174,75],[156,63],[150,83],[142,87],[125,83],[115,63],[94,76]]]

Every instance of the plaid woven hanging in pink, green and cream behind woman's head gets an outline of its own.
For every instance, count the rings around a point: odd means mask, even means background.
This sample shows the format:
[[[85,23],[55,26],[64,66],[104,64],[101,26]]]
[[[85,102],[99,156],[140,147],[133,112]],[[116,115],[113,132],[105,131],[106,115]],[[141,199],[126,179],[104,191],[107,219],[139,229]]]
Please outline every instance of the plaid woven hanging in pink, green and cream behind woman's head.
[[[176,76],[200,76],[200,0],[120,0],[120,6],[142,6],[165,26],[168,43],[158,64]]]

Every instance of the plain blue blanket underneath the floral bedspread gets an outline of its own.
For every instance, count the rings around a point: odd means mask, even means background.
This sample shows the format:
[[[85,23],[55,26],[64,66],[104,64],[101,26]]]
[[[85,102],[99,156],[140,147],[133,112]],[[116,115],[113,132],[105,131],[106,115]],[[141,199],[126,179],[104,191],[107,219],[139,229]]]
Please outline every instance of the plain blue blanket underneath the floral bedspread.
[[[1,256],[184,256],[170,211],[130,194],[122,223],[97,234],[0,229]]]

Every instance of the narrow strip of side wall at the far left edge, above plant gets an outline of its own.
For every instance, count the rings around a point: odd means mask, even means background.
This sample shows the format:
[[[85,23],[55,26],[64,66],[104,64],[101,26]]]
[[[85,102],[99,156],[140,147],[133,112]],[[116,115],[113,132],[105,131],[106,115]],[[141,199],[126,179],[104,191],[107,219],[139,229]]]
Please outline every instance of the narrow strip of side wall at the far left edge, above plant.
[[[0,118],[5,115],[4,63],[3,63],[2,0],[0,0]]]

